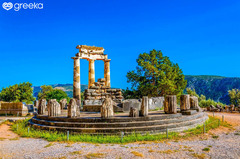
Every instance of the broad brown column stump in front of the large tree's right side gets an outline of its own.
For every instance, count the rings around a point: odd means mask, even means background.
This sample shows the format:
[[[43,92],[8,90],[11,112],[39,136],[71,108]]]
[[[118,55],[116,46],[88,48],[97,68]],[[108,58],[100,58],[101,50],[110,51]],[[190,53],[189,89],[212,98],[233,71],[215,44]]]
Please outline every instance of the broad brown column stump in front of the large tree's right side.
[[[177,96],[167,95],[164,100],[164,112],[166,114],[177,113]]]

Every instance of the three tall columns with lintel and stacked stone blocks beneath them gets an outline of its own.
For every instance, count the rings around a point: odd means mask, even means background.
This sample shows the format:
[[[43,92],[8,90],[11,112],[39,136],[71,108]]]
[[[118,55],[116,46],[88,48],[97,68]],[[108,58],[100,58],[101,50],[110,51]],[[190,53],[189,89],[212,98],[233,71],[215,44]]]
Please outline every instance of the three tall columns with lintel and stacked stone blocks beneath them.
[[[73,80],[73,98],[81,101],[81,85],[80,85],[80,59],[86,59],[89,62],[88,89],[85,90],[83,101],[84,111],[100,111],[102,102],[109,95],[117,105],[122,103],[123,97],[121,89],[111,89],[110,85],[110,59],[104,54],[102,47],[78,45],[79,52],[74,60],[74,80]],[[95,81],[95,61],[104,61],[104,78]]]

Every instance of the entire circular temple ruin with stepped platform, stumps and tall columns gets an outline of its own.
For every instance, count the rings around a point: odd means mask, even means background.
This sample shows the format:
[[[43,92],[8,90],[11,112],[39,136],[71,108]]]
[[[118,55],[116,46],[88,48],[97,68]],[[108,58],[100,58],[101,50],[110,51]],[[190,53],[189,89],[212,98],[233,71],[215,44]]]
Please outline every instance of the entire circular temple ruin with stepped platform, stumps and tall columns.
[[[102,47],[78,45],[74,59],[73,99],[36,102],[38,113],[29,121],[38,129],[81,134],[156,134],[179,132],[203,124],[208,116],[198,98],[176,95],[124,100],[121,89],[111,89],[110,59]],[[81,101],[80,59],[89,61],[89,83]],[[104,61],[104,78],[95,82],[95,60]],[[82,106],[83,105],[83,106]],[[157,110],[157,111],[156,111]]]

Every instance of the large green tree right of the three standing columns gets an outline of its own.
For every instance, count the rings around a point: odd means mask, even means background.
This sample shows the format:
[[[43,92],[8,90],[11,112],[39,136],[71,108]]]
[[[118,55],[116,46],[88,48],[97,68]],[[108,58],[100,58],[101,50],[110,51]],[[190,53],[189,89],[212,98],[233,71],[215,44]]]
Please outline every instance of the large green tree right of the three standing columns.
[[[127,73],[128,83],[138,97],[180,95],[187,85],[178,64],[163,56],[161,51],[152,50],[140,54],[136,70]]]

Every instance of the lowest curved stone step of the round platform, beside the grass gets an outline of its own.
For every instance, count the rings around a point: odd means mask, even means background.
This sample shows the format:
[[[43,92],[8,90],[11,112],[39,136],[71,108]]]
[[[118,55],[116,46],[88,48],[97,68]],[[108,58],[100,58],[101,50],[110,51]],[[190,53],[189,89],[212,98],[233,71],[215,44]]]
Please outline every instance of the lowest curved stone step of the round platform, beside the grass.
[[[169,131],[173,131],[174,129],[182,130],[188,129],[193,127],[193,125],[202,124],[208,118],[207,115],[203,115],[200,118],[189,120],[180,123],[171,123],[171,124],[164,124],[164,125],[152,125],[152,126],[140,126],[140,127],[117,127],[117,128],[79,128],[79,127],[59,127],[59,126],[47,126],[36,124],[30,121],[33,127],[43,129],[43,130],[55,130],[55,131],[71,131],[71,132],[78,132],[78,133],[86,133],[86,134],[119,134],[120,132],[125,133],[160,133],[166,131],[168,128]]]

